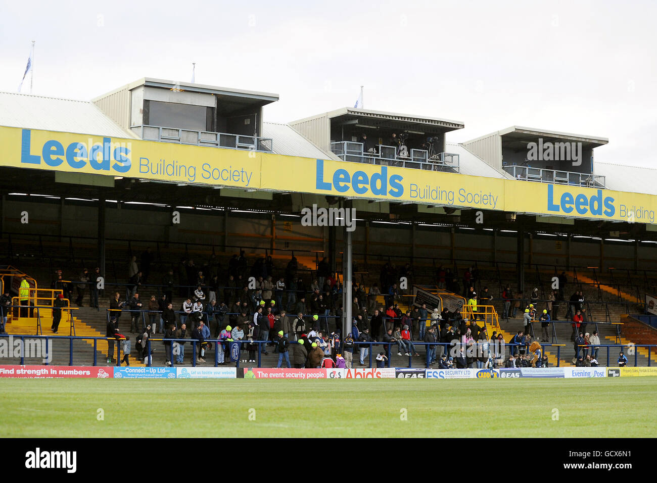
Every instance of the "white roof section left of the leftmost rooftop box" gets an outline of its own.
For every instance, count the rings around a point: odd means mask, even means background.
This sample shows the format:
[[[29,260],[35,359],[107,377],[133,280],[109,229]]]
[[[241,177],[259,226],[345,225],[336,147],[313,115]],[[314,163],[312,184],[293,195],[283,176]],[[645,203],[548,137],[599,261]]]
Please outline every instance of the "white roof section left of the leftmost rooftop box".
[[[105,116],[93,103],[10,92],[0,92],[0,126],[136,137]]]

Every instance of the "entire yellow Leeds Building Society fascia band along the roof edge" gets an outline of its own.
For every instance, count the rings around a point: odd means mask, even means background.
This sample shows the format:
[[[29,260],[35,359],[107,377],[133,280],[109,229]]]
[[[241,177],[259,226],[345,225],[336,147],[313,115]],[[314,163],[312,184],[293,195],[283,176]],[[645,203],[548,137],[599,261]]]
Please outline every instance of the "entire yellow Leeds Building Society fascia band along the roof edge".
[[[656,222],[657,196],[606,189],[18,127],[0,127],[0,150],[14,168]]]

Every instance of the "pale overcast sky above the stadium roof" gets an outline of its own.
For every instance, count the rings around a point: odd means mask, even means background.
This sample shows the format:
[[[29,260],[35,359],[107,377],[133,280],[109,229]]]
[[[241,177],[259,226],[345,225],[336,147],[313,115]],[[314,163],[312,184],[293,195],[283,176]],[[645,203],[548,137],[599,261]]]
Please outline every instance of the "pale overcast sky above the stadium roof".
[[[35,95],[90,100],[143,77],[277,93],[265,120],[353,106],[607,137],[653,167],[655,1],[0,0],[0,90],[36,41]],[[22,92],[29,93],[29,80]]]

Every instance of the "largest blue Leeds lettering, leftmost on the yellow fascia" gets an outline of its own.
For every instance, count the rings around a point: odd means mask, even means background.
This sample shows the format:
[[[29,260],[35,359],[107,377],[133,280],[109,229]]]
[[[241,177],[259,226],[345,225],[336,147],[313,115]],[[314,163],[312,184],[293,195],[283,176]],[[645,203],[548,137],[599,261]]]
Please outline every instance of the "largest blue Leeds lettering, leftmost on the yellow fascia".
[[[129,158],[129,143],[112,143],[109,137],[102,138],[101,144],[70,143],[66,149],[64,145],[55,139],[46,141],[39,147],[41,156],[32,154],[32,131],[23,129],[22,143],[20,145],[20,162],[25,164],[41,164],[57,168],[66,160],[71,168],[79,170],[89,163],[89,166],[97,171],[109,171],[110,168],[119,173],[127,173],[130,170],[131,160]],[[112,160],[114,163],[112,164]]]

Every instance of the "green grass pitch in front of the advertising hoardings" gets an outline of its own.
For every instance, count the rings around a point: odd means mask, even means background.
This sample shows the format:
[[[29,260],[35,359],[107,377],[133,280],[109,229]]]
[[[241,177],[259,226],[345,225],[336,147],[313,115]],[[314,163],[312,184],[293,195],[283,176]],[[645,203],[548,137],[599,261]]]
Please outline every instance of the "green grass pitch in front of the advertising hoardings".
[[[3,379],[0,389],[2,437],[657,436],[657,377]]]

